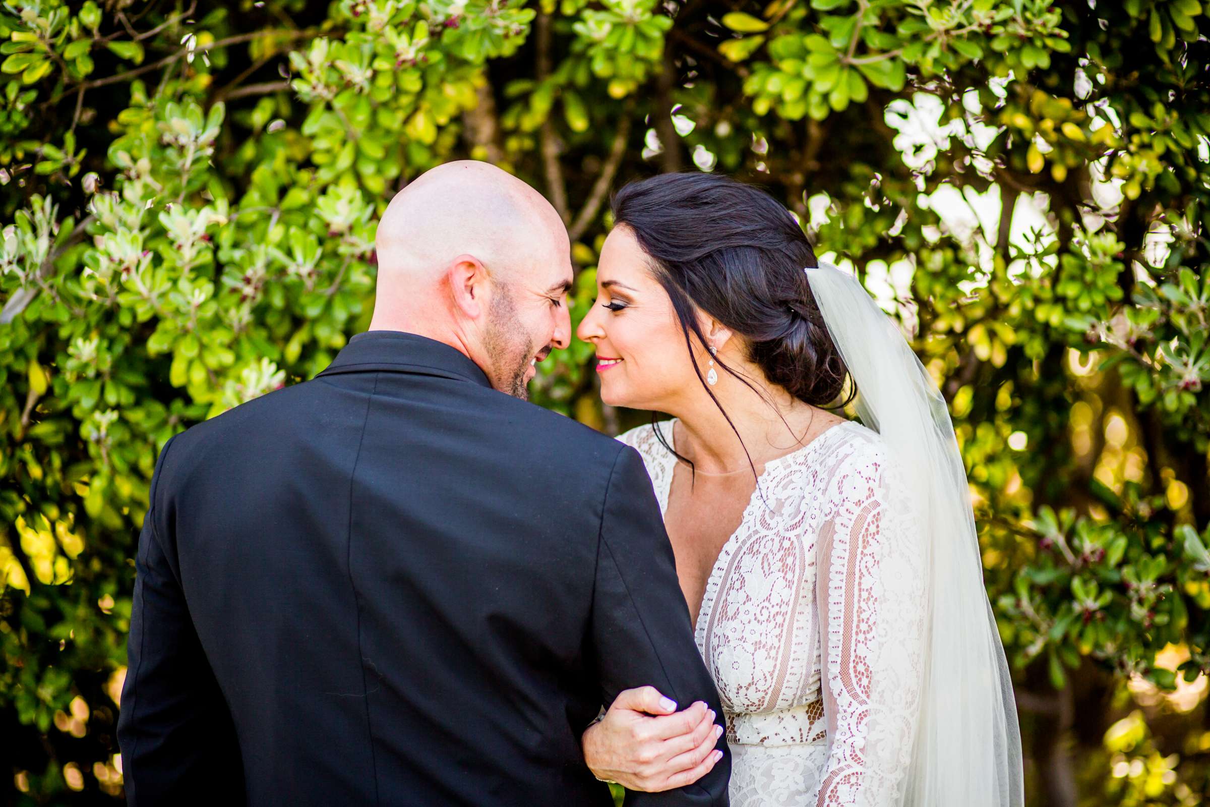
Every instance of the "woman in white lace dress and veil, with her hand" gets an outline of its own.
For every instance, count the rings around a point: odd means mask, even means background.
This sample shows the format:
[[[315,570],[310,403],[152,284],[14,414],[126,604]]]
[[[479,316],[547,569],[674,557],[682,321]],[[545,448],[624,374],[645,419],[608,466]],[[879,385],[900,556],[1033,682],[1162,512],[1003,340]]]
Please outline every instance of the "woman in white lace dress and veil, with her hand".
[[[906,341],[754,188],[664,174],[613,217],[578,335],[606,403],[674,415],[618,439],[646,462],[721,696],[731,803],[1022,805],[966,473]],[[846,390],[860,425],[828,410]],[[708,771],[710,716],[670,736],[682,715],[636,692],[583,736],[598,778]]]

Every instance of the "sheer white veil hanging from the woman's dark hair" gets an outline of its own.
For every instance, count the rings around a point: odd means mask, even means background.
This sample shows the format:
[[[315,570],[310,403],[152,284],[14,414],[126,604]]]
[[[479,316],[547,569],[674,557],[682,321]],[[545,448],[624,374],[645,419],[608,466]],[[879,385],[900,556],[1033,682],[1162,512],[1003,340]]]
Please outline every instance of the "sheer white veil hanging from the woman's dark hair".
[[[984,588],[970,490],[945,399],[857,278],[824,263],[806,275],[857,385],[858,415],[882,438],[898,471],[894,482],[904,488],[898,492],[911,502],[918,535],[905,536],[904,546],[914,547],[905,551],[924,555],[912,564],[926,575],[927,596],[920,604],[924,630],[916,649],[922,675],[910,696],[915,701],[918,692],[918,713],[915,731],[905,733],[915,734],[911,761],[904,771],[905,749],[866,743],[868,769],[906,774],[893,802],[875,803],[1020,807],[1024,773],[1013,685]],[[875,678],[871,715],[904,701],[901,691],[891,691],[903,686],[897,675],[878,685]]]

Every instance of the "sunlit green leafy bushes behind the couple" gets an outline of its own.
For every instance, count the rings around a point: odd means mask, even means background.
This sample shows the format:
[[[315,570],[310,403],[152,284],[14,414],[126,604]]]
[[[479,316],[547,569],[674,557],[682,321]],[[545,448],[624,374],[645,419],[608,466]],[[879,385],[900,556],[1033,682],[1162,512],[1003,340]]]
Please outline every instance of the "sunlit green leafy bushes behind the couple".
[[[451,158],[564,215],[767,188],[950,403],[1030,805],[1210,795],[1203,0],[12,0],[0,10],[0,794],[114,803],[173,433],[323,369]],[[590,350],[535,399],[611,433]],[[221,800],[221,794],[215,794]]]

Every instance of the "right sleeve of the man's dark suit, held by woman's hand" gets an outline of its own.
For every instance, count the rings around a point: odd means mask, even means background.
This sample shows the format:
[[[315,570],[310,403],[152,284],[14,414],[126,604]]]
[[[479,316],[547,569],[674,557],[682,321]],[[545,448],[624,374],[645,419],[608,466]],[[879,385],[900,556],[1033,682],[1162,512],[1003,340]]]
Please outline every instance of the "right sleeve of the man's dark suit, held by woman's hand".
[[[693,642],[651,479],[629,446],[613,463],[597,552],[592,632],[604,702],[612,703],[622,690],[650,685],[678,708],[704,701],[721,724],[719,696]],[[627,792],[626,803],[726,807],[731,755],[721,737],[718,748],[724,757],[696,784],[666,792]]]

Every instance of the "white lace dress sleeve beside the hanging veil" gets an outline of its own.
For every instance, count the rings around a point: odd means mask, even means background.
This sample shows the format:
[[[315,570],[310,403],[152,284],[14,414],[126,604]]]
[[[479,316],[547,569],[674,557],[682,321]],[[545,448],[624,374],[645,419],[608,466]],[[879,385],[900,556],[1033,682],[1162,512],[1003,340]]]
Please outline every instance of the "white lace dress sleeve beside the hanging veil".
[[[926,581],[876,443],[841,462],[818,543],[828,766],[818,807],[901,803],[920,716]]]

